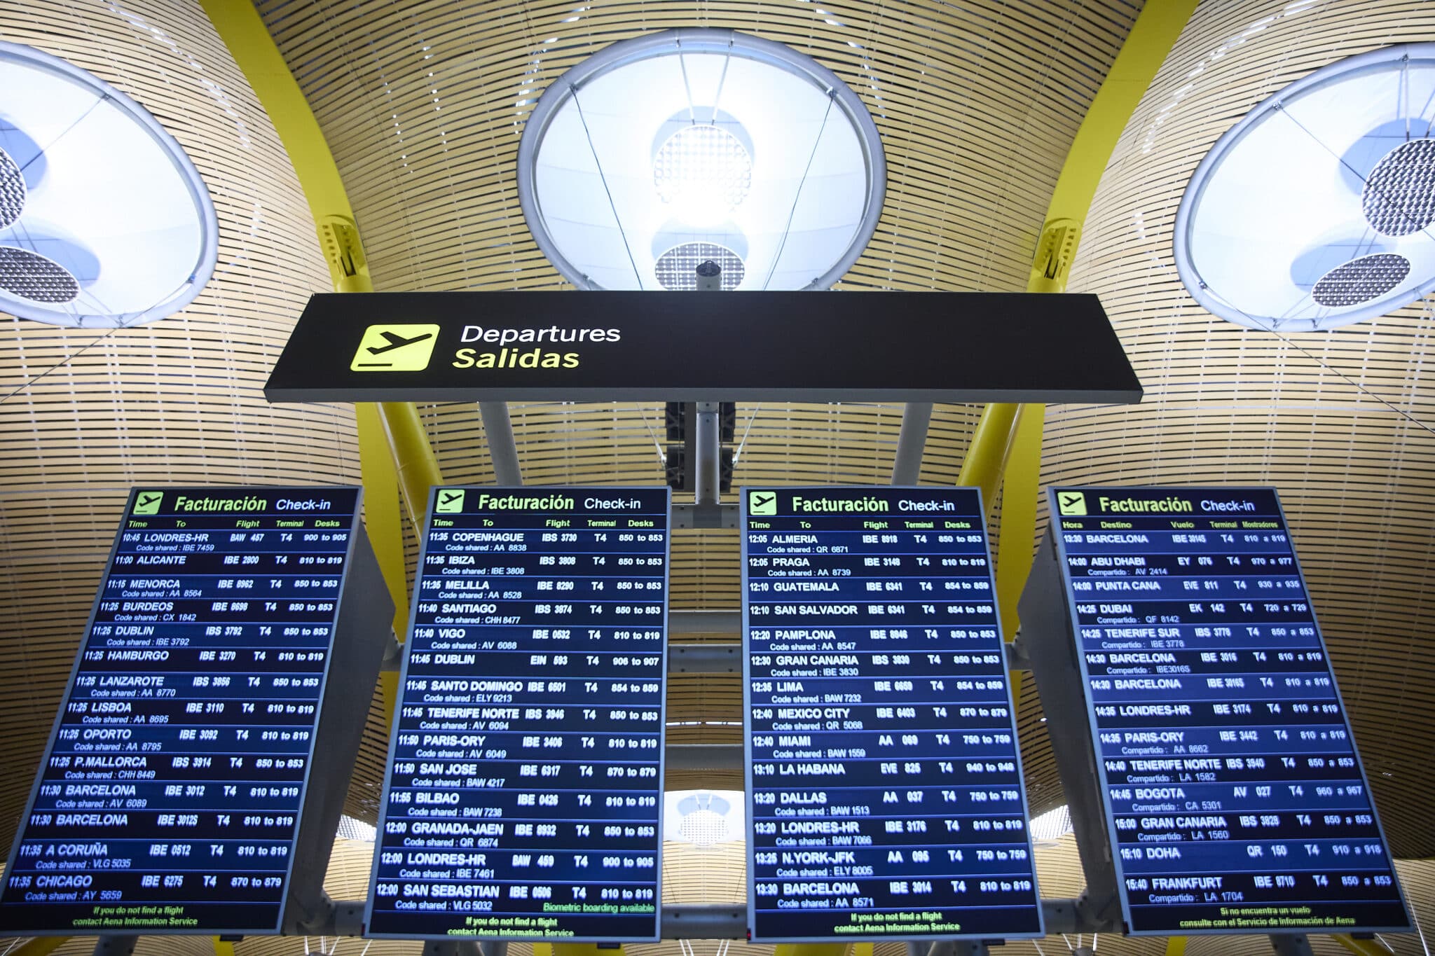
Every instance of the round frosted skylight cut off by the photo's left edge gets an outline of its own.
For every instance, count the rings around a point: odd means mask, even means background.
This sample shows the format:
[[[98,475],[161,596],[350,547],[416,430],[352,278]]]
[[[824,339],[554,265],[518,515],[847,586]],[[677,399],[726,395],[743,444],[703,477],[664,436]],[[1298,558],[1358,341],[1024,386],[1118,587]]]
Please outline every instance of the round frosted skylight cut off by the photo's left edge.
[[[0,311],[138,325],[210,281],[214,204],[144,106],[65,60],[0,43]]]

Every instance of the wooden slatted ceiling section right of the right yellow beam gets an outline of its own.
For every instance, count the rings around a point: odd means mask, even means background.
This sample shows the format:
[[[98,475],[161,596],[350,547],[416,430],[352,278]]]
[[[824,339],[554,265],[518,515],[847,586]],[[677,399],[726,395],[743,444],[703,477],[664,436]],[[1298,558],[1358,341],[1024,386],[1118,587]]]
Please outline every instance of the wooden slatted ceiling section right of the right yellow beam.
[[[1280,489],[1399,856],[1435,853],[1431,305],[1333,333],[1240,328],[1185,292],[1171,229],[1195,165],[1258,102],[1326,63],[1415,40],[1435,40],[1429,4],[1198,9],[1122,135],[1072,275],[1073,291],[1101,295],[1147,398],[1055,408],[1043,464],[1049,483]]]

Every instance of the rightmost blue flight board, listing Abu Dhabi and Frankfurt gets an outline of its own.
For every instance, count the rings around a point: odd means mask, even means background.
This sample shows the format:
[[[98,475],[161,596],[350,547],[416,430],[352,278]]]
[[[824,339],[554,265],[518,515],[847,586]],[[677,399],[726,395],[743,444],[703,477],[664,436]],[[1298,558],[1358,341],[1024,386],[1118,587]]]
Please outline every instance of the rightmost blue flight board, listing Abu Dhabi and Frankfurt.
[[[1129,932],[1408,929],[1276,492],[1050,507]]]

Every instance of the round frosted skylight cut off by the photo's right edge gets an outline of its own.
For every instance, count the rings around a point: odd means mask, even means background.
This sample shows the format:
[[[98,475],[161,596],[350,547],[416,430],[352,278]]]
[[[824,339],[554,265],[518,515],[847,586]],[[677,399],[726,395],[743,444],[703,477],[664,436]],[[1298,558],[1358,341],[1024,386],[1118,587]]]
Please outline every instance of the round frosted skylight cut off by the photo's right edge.
[[[1181,281],[1251,328],[1326,330],[1435,288],[1435,43],[1280,90],[1211,148],[1175,219]]]

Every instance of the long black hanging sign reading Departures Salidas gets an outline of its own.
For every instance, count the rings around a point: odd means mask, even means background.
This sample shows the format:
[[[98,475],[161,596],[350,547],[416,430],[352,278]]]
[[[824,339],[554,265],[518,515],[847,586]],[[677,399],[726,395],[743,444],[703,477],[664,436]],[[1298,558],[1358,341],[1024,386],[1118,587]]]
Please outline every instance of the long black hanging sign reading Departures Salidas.
[[[817,357],[817,360],[814,360]],[[1139,401],[1095,295],[314,295],[270,401]]]

